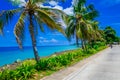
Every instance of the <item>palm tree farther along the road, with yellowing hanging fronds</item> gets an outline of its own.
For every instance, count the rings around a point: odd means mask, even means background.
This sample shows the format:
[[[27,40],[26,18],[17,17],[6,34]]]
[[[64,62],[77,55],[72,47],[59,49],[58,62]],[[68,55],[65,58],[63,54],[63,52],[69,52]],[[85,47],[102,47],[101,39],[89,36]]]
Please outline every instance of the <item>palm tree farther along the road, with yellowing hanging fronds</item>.
[[[85,6],[85,4],[86,0],[75,0],[73,4],[74,15],[63,18],[67,24],[67,37],[70,39],[72,35],[75,35],[77,46],[78,40],[81,39],[82,48],[84,48],[85,41],[91,38],[90,34],[93,28],[90,21],[98,16],[98,12],[93,5]]]

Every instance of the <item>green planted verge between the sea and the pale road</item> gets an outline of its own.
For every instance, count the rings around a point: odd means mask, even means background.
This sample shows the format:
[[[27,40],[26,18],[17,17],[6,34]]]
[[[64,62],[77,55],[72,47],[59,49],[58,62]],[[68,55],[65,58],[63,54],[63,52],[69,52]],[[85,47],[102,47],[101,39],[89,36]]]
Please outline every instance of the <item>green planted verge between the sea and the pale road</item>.
[[[99,48],[88,49],[87,52],[82,51],[82,49],[64,52],[60,55],[43,58],[38,64],[34,60],[26,60],[16,67],[15,70],[4,69],[0,71],[0,80],[39,80],[105,48],[106,46],[101,46]]]

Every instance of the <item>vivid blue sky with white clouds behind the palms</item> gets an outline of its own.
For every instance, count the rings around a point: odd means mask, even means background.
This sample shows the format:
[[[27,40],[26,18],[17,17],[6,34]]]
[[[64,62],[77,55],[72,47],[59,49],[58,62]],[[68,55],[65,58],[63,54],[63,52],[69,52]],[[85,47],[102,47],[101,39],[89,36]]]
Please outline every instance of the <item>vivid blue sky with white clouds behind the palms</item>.
[[[14,0],[12,0],[14,1]],[[63,10],[67,14],[73,14],[72,3],[74,0],[66,0],[64,3],[56,3],[55,1],[51,1],[49,4],[52,7]],[[24,0],[21,0],[22,4],[18,7],[24,5]],[[98,20],[99,26],[101,29],[104,29],[106,26],[112,26],[117,35],[120,36],[120,0],[87,0],[87,4],[94,4],[95,8],[99,12],[99,17],[96,18]],[[43,5],[40,5],[43,6]],[[43,6],[45,7],[45,5]],[[0,11],[2,10],[10,10],[17,8],[17,6],[13,6],[7,0],[1,0],[0,2]],[[15,23],[17,22],[18,17],[15,17],[9,25],[6,25],[4,28],[4,35],[0,35],[0,47],[11,47],[18,46],[16,43],[15,36],[13,34]],[[37,45],[38,46],[47,46],[47,45],[68,45],[74,43],[75,39],[72,39],[69,42],[65,36],[63,36],[59,32],[46,30],[45,33],[39,32],[37,36]],[[30,46],[31,39],[29,33],[25,33],[25,41],[24,46]]]

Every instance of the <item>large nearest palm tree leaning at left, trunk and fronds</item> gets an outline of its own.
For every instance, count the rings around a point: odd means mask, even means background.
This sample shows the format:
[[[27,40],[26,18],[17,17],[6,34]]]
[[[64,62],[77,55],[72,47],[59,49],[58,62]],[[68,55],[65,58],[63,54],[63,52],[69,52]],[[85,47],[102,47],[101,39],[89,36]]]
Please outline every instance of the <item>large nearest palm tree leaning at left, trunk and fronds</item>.
[[[40,30],[43,32],[43,26],[44,24],[47,24],[50,29],[56,29],[59,32],[64,33],[58,21],[58,17],[60,16],[56,14],[56,12],[58,13],[62,11],[39,6],[41,3],[43,4],[44,2],[46,2],[46,0],[26,0],[23,7],[8,11],[2,11],[0,13],[0,33],[3,33],[4,26],[8,24],[11,19],[16,16],[16,14],[20,14],[20,17],[14,28],[14,34],[17,43],[19,44],[19,47],[22,48],[25,27],[27,27],[30,32],[34,56],[37,62],[39,61],[39,55],[36,48],[36,35],[38,27],[40,27]]]

